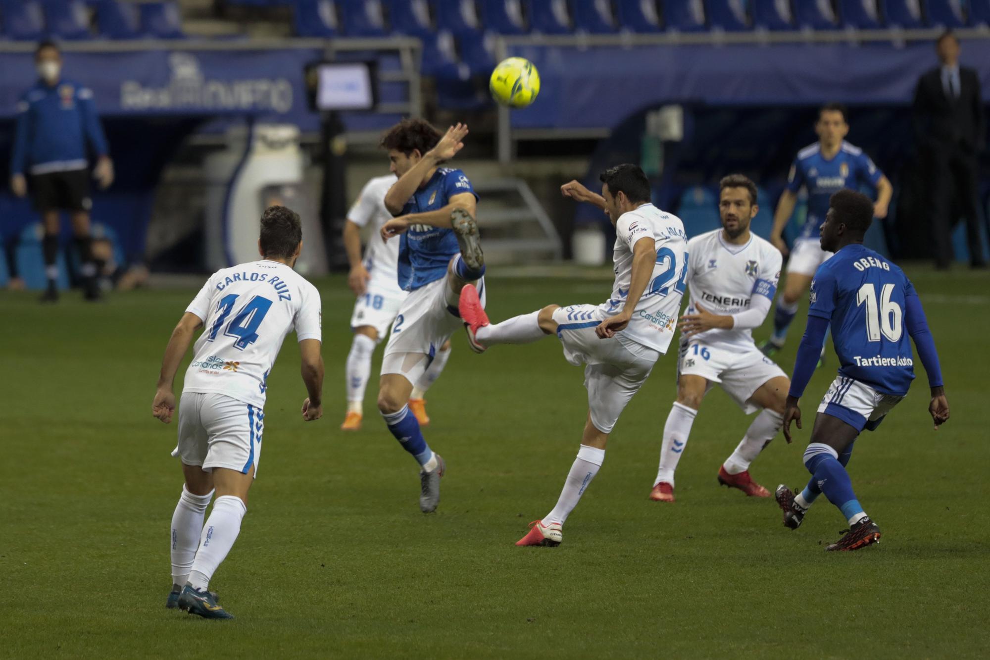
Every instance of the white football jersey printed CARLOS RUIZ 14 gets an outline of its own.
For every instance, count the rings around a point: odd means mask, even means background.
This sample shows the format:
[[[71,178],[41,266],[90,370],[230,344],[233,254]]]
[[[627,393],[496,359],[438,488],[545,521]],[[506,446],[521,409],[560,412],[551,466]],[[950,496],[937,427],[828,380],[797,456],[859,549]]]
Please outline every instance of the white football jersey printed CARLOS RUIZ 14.
[[[217,271],[186,308],[203,334],[183,391],[226,394],[264,406],[265,381],[293,328],[320,340],[320,292],[285,264],[262,260]]]

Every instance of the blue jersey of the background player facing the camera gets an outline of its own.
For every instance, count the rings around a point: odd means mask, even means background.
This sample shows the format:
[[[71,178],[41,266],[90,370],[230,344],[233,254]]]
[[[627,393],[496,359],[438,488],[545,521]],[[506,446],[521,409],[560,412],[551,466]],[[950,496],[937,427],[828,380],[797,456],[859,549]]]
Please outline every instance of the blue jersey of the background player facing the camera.
[[[822,147],[815,143],[805,147],[794,159],[787,176],[787,189],[797,192],[808,188],[808,218],[801,229],[802,238],[818,238],[818,230],[829,212],[829,198],[843,188],[859,189],[865,183],[876,190],[883,172],[858,147],[842,141],[839,153],[831,161],[822,156]]]

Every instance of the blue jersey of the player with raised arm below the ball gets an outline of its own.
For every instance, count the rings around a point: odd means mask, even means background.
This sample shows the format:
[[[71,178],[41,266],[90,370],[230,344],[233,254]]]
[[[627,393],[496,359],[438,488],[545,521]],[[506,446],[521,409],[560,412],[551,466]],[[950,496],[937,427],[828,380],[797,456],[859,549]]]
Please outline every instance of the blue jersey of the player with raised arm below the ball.
[[[439,167],[427,184],[413,193],[402,214],[436,211],[450,203],[450,197],[464,192],[478,198],[464,172]],[[412,225],[400,239],[399,286],[407,291],[444,277],[450,258],[460,252],[452,229]]]

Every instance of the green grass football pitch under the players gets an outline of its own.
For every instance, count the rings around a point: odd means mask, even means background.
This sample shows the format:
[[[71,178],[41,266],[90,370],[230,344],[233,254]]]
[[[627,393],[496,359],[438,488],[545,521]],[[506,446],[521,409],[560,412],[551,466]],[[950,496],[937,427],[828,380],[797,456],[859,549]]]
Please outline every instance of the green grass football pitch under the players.
[[[849,554],[824,551],[844,526],[824,498],[789,531],[772,499],[718,486],[751,419],[719,390],[695,422],[677,502],[646,498],[672,355],[620,419],[563,545],[514,547],[553,505],[584,422],[582,372],[554,338],[476,356],[454,337],[426,429],[448,473],[439,511],[423,515],[416,465],[375,411],[376,381],[363,430],[338,430],[351,296],[343,278],[319,280],[325,416],[300,419],[290,335],[269,380],[242,534],[212,584],[231,622],[163,606],[181,477],[168,456],[176,425],[149,408],[195,291],[99,305],[67,294],[54,307],[0,293],[0,656],[985,657],[990,278],[908,272],[952,416],[932,430],[919,368],[907,399],[857,443],[853,486],[884,536]],[[600,278],[493,276],[489,311],[500,320],[608,290]],[[802,319],[779,359],[786,371]],[[835,369],[832,357],[808,389],[809,422]],[[770,490],[805,483],[809,429],[790,446],[778,436],[753,477]]]

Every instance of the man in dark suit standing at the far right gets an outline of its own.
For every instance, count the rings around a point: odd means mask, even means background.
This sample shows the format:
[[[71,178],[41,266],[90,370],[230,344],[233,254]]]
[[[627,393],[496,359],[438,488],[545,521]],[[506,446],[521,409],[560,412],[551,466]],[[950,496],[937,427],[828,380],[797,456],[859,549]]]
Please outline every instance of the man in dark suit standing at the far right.
[[[966,218],[970,264],[983,268],[976,173],[986,137],[980,81],[974,69],[959,65],[959,42],[951,32],[941,35],[936,51],[941,65],[919,78],[912,118],[915,140],[929,167],[936,267],[947,269],[952,261],[952,202],[958,200],[958,212]]]

